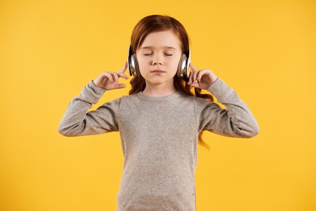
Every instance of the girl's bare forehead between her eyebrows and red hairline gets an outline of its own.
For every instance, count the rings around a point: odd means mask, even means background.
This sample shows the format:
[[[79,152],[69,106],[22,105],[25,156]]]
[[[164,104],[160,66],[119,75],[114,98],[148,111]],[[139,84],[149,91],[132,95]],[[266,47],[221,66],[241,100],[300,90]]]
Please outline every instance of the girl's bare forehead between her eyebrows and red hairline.
[[[140,48],[142,47],[174,47],[179,49],[181,42],[179,37],[172,31],[159,31],[149,33]]]

